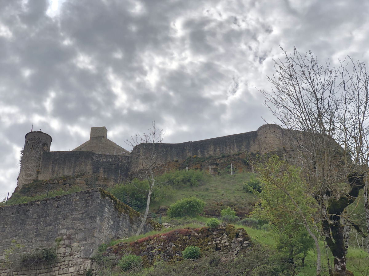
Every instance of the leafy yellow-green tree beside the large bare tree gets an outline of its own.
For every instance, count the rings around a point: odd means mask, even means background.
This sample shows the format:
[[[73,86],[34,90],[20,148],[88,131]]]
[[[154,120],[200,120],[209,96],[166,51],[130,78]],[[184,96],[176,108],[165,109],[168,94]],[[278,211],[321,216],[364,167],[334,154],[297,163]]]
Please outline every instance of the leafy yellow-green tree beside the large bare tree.
[[[259,220],[269,220],[278,248],[290,259],[299,254],[303,254],[304,259],[315,244],[319,275],[321,253],[314,223],[317,204],[307,194],[308,189],[299,176],[299,170],[280,160],[277,155],[256,163],[254,167],[263,188],[261,192],[254,190],[261,198],[261,203],[255,206],[252,216]],[[311,242],[306,243],[304,233],[311,237]]]

